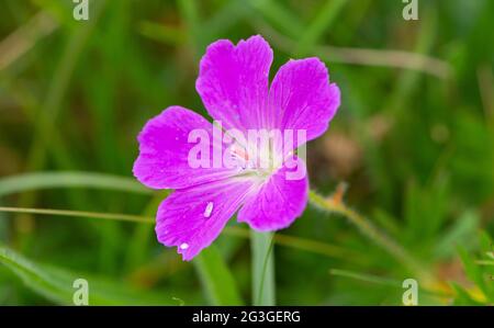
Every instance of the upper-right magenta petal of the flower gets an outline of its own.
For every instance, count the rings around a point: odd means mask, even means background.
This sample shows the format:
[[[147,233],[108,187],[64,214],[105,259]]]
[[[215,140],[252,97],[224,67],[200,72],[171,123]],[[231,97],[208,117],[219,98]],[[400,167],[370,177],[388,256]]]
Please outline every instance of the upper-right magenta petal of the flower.
[[[289,60],[272,81],[269,117],[281,129],[305,129],[308,142],[327,129],[339,102],[339,88],[329,84],[324,63],[317,58]]]

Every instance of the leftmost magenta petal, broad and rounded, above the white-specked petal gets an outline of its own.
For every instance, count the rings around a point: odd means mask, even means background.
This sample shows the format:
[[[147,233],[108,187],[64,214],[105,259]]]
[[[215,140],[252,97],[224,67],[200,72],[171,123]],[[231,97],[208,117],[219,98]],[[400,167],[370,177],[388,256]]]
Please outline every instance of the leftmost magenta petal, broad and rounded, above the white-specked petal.
[[[192,168],[188,161],[190,149],[197,145],[188,142],[193,129],[209,134],[210,168]],[[134,162],[134,176],[149,188],[179,189],[234,174],[226,168],[213,168],[212,132],[213,125],[201,115],[180,106],[168,108],[149,120],[138,135],[139,156]]]

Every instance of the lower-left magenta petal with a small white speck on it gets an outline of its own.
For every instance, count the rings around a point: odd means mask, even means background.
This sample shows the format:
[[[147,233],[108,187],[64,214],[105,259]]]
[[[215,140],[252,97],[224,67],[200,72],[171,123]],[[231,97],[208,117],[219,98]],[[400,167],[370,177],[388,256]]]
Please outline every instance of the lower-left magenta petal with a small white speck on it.
[[[252,186],[231,179],[175,191],[158,208],[159,242],[191,260],[216,239]]]

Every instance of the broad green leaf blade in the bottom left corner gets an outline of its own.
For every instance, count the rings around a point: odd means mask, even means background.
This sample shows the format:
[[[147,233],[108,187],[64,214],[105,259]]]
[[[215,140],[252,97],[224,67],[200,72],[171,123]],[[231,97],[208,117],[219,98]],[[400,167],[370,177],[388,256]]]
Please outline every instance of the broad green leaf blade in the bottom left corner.
[[[126,285],[91,274],[74,272],[36,263],[10,248],[0,246],[0,263],[20,278],[33,292],[61,305],[71,305],[72,287],[77,279],[85,279],[89,286],[89,305],[176,305],[172,296],[141,292]]]

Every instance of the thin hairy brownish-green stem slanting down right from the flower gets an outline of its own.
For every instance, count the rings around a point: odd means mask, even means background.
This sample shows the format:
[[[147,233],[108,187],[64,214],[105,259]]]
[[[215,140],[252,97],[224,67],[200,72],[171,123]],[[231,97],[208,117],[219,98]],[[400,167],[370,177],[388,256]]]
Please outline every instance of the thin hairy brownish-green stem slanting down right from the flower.
[[[412,257],[400,244],[391,239],[384,231],[377,228],[366,217],[358,214],[356,211],[349,208],[341,200],[341,194],[334,197],[324,197],[315,191],[310,191],[308,201],[316,207],[345,216],[351,224],[353,224],[362,235],[374,241],[382,249],[388,251],[393,258],[407,267],[411,271],[416,273],[428,283],[436,283],[434,275],[425,270],[424,265]]]

